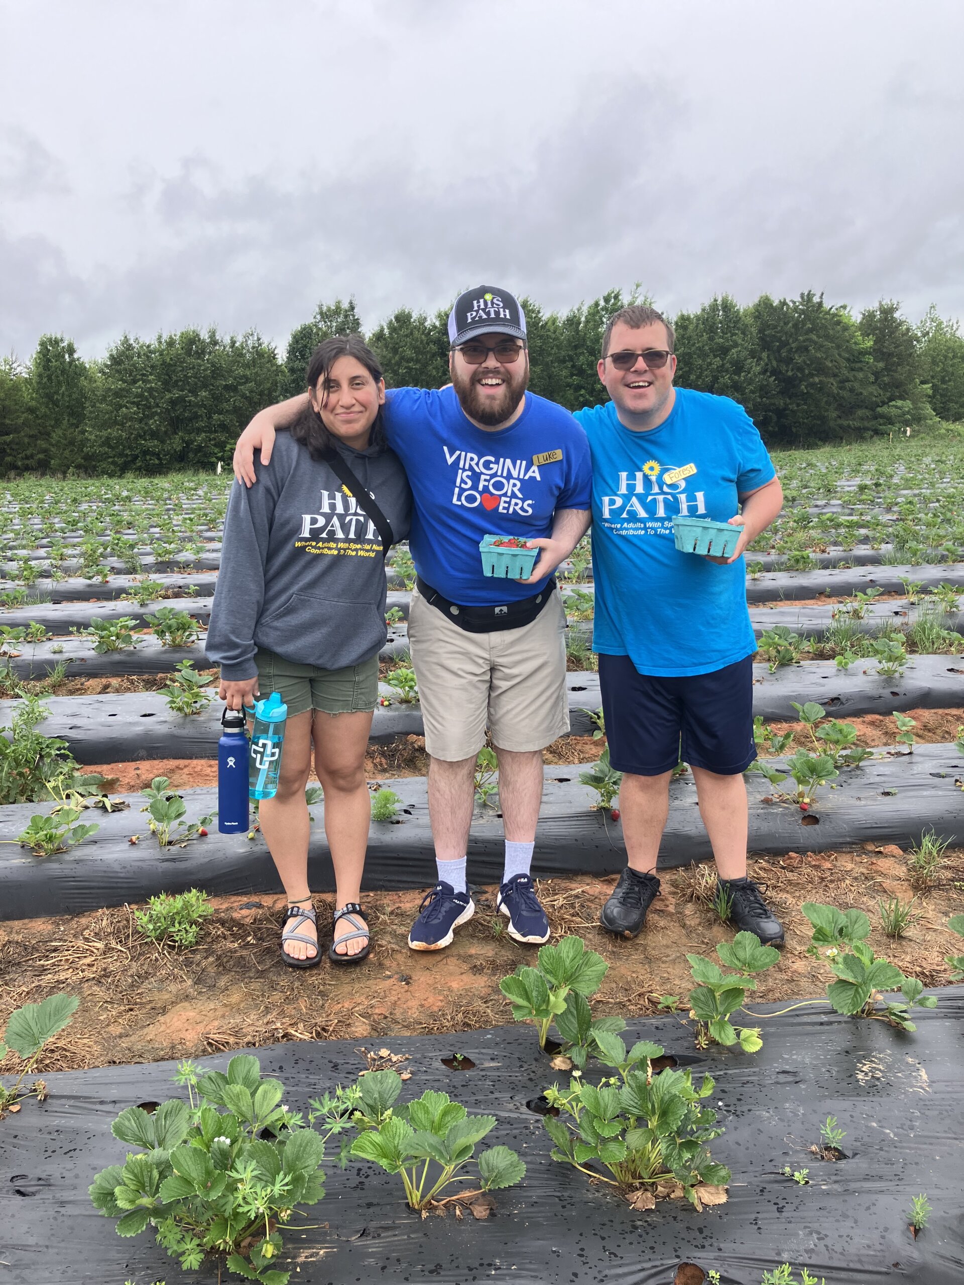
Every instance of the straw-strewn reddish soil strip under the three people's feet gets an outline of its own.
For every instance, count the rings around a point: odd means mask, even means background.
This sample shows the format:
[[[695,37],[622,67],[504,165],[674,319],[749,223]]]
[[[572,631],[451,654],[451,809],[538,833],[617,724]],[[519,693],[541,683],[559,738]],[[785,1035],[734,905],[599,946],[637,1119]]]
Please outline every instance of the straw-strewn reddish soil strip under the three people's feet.
[[[761,977],[761,1001],[825,992],[828,969],[806,953],[810,925],[799,910],[817,888],[820,900],[870,915],[878,953],[925,986],[950,982],[945,956],[959,953],[961,943],[946,924],[964,910],[964,849],[947,853],[940,885],[918,897],[919,919],[898,941],[883,935],[878,914],[878,898],[913,896],[898,848],[758,858],[751,874],[767,887],[787,928],[779,965]],[[594,1010],[626,1018],[653,1014],[662,996],[684,997],[692,988],[686,952],[715,959],[715,946],[733,930],[706,903],[712,867],[690,866],[662,875],[661,896],[639,938],[613,938],[599,928],[598,915],[614,882],[542,880],[540,896],[555,935],[576,933],[609,962]],[[533,951],[506,935],[494,894],[494,888],[477,891],[476,917],[455,943],[423,955],[406,944],[422,893],[368,893],[369,960],[344,968],[323,959],[306,971],[285,968],[279,957],[281,898],[275,896],[215,898],[215,915],[198,944],[185,951],[141,937],[126,906],[0,924],[0,1028],[21,1004],[58,991],[80,996],[73,1023],[44,1052],[44,1072],[199,1056],[281,1040],[370,1042],[500,1024],[510,1014],[499,979],[531,960]],[[323,946],[330,941],[326,902],[330,898],[319,898]],[[0,1070],[12,1069],[12,1063]]]

